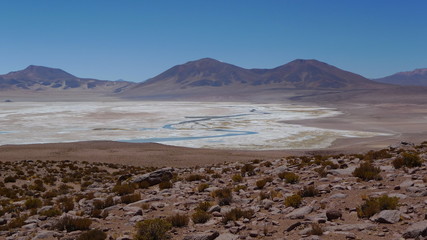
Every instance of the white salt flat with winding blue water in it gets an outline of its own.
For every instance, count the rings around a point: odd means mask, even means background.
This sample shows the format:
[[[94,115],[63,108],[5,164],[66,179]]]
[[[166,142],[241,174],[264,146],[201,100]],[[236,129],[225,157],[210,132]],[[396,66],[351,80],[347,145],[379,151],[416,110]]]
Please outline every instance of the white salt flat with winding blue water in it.
[[[90,140],[217,149],[324,148],[379,132],[285,121],[338,116],[332,108],[195,102],[12,102],[0,104],[0,145]]]

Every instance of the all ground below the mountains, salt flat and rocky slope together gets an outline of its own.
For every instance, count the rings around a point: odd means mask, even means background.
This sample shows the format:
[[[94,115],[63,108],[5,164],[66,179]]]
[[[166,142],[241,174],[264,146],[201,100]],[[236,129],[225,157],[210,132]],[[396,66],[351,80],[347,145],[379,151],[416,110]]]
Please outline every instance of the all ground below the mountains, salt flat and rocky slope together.
[[[0,239],[152,239],[141,238],[150,224],[186,240],[422,236],[426,113],[416,103],[2,103]]]

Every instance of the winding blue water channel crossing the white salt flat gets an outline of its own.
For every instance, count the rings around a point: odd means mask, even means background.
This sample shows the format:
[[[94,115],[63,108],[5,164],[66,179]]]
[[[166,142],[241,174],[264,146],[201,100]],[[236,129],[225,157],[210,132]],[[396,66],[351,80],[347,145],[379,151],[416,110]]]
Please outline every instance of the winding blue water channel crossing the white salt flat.
[[[253,114],[253,111],[251,111]],[[268,113],[262,113],[268,114]],[[213,119],[221,118],[233,118],[233,117],[243,117],[251,114],[236,114],[236,115],[227,115],[227,116],[197,116],[197,117],[186,117],[189,121],[182,121],[174,124],[166,124],[162,128],[168,130],[179,131],[175,128],[176,125],[186,124],[186,123],[198,123],[203,121],[209,121]],[[152,130],[150,128],[141,128],[140,130]],[[252,131],[241,131],[241,130],[228,130],[228,129],[213,129],[212,132],[224,132],[220,135],[207,135],[207,136],[194,136],[194,137],[167,137],[167,138],[139,138],[132,140],[123,140],[122,142],[131,142],[131,143],[149,143],[149,142],[171,142],[171,141],[188,141],[188,140],[199,140],[199,139],[212,139],[212,138],[223,138],[223,137],[232,137],[232,136],[244,136],[244,135],[253,135],[258,134],[258,132]]]

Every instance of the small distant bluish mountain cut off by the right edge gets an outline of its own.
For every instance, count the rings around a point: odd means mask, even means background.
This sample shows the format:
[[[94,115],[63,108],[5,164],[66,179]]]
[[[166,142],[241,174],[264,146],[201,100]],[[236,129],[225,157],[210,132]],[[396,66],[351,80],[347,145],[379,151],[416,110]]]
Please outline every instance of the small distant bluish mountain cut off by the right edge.
[[[374,79],[374,81],[403,86],[427,87],[427,68],[415,69],[409,72],[399,72],[384,78]]]

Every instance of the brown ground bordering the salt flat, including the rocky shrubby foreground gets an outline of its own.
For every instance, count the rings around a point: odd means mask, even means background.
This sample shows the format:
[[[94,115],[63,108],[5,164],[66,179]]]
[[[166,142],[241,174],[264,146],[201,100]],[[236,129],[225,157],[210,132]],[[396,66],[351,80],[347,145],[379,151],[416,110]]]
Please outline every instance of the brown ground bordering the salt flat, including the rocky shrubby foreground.
[[[0,239],[144,239],[142,223],[160,224],[157,231],[172,239],[424,236],[423,105],[336,109],[342,114],[284,122],[387,134],[288,150],[113,141],[0,146]],[[361,166],[368,177],[355,173]]]

